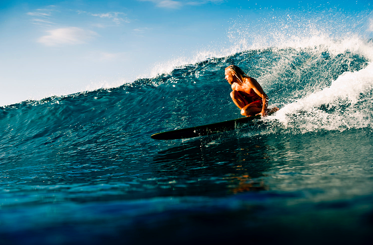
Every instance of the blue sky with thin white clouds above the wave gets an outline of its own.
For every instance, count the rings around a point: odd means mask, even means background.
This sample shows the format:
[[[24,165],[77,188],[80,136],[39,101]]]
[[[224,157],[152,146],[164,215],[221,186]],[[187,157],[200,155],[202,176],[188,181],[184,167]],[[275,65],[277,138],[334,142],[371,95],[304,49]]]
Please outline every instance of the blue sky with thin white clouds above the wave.
[[[371,38],[370,1],[0,0],[0,106],[117,87],[258,37],[275,45],[284,29]]]

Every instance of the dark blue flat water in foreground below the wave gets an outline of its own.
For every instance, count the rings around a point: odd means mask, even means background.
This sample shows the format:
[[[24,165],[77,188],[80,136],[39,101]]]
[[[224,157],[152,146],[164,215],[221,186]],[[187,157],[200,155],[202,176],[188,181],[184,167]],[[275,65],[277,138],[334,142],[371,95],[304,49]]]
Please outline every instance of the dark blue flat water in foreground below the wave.
[[[0,241],[370,244],[372,140],[356,130],[195,140],[116,180],[112,166],[72,165],[64,184],[3,190]]]

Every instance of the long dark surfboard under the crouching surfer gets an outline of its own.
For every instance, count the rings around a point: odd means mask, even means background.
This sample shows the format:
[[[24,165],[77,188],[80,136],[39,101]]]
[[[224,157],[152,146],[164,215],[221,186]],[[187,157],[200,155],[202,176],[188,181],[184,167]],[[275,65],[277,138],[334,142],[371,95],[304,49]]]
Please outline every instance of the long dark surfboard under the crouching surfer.
[[[239,128],[243,124],[246,124],[258,118],[260,118],[260,115],[252,117],[242,117],[224,122],[161,132],[153,134],[150,137],[154,140],[176,140],[206,136]]]

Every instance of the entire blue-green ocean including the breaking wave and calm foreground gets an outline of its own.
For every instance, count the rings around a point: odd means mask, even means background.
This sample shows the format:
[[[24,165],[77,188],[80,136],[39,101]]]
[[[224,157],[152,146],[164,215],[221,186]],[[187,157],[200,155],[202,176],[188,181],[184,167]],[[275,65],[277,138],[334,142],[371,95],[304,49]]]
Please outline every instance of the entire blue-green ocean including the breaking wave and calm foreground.
[[[352,37],[252,48],[0,107],[0,244],[371,244],[372,60]],[[241,117],[230,64],[280,110],[150,138]]]

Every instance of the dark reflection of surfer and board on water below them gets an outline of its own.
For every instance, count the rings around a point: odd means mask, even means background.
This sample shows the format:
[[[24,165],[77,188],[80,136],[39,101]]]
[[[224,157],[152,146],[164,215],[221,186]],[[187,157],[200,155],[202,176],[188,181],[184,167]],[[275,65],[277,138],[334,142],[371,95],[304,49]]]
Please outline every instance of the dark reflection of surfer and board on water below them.
[[[182,195],[263,191],[268,187],[261,178],[271,167],[268,148],[260,137],[190,140],[155,154],[152,169],[157,178],[183,185]]]

